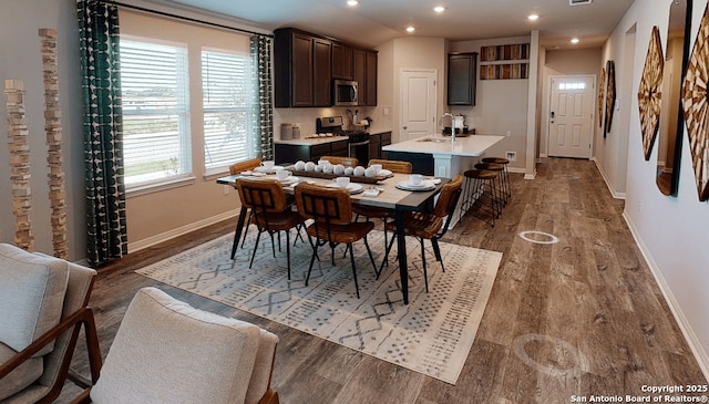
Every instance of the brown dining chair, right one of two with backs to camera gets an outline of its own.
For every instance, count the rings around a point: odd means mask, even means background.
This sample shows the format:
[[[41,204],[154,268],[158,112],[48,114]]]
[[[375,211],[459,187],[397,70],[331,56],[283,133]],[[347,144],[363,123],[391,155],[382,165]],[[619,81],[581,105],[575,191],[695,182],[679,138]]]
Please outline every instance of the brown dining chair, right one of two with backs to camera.
[[[352,204],[350,193],[345,188],[330,188],[311,184],[298,184],[295,187],[296,206],[298,213],[312,222],[308,226],[307,232],[312,246],[312,257],[306,276],[306,286],[310,280],[310,272],[315,259],[318,258],[318,248],[325,245],[330,246],[332,266],[335,266],[335,247],[339,244],[347,244],[352,266],[352,277],[354,278],[354,289],[359,299],[359,284],[357,282],[357,269],[354,268],[354,253],[352,242],[364,240],[367,253],[378,274],[374,257],[367,242],[367,234],[374,228],[371,221],[352,221]],[[315,239],[315,240],[314,240]]]

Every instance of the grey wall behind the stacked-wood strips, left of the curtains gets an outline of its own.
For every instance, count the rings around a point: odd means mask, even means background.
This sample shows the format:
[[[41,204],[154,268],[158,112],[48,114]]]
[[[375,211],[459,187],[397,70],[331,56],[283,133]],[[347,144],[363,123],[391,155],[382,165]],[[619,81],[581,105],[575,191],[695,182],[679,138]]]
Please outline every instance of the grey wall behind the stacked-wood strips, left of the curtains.
[[[0,0],[0,86],[6,80],[22,80],[30,131],[32,234],[34,250],[52,253],[51,209],[47,184],[44,86],[40,51],[41,28],[58,31],[59,91],[62,113],[68,239],[70,259],[84,258],[85,214],[83,141],[81,130],[81,75],[79,35],[73,0]],[[0,241],[14,242],[14,215],[8,151],[6,96],[0,102]]]

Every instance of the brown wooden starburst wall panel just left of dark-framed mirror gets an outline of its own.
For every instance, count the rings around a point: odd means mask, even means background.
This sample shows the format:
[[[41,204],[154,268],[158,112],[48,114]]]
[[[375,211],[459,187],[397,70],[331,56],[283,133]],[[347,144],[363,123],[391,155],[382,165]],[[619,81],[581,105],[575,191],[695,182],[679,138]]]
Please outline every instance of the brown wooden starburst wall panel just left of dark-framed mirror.
[[[662,97],[662,71],[665,58],[660,44],[660,31],[653,27],[650,44],[645,56],[645,66],[638,89],[638,108],[640,110],[640,130],[643,131],[643,151],[645,159],[650,159],[653,144],[657,136]]]

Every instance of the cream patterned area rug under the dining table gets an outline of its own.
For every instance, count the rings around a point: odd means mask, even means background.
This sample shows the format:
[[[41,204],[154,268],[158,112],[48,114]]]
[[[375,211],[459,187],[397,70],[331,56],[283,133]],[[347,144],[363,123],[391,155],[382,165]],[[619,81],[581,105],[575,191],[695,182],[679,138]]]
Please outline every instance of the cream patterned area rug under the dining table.
[[[408,240],[409,304],[403,304],[395,249],[377,280],[363,242],[353,245],[358,299],[343,246],[335,249],[335,266],[330,249],[320,248],[320,261],[316,260],[306,287],[312,249],[305,231],[305,242],[298,240],[290,248],[291,280],[285,237],[282,251],[276,242],[276,258],[268,236],[261,237],[248,268],[255,232],[251,228],[234,260],[229,258],[233,236],[225,235],[136,272],[455,384],[485,310],[501,252],[441,244],[442,272],[427,241],[427,293],[420,245]],[[376,262],[381,262],[383,234],[372,231],[368,241]]]

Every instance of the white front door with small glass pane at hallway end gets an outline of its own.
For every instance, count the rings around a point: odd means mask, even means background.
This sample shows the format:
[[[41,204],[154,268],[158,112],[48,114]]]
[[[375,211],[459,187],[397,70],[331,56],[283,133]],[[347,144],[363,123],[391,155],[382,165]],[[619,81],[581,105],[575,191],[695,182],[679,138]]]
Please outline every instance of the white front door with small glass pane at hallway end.
[[[590,158],[594,76],[552,77],[548,155]]]

